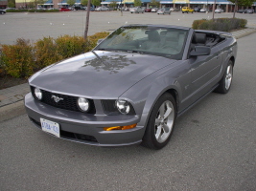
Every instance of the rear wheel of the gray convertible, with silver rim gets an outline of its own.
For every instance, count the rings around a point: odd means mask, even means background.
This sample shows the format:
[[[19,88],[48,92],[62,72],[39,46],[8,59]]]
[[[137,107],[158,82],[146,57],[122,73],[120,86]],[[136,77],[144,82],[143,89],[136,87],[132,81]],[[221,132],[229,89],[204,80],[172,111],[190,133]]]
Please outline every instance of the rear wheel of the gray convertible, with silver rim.
[[[228,61],[225,73],[223,74],[220,85],[217,87],[215,92],[226,94],[230,90],[232,79],[233,79],[233,67],[234,64],[231,60]]]

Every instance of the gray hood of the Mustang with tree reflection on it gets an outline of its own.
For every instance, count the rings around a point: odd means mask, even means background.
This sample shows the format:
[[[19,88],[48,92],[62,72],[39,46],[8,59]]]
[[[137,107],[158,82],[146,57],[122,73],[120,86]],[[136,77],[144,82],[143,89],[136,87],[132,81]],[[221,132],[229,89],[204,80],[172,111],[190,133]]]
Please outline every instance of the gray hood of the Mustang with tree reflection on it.
[[[29,81],[55,93],[111,98],[121,96],[141,79],[175,61],[149,54],[95,51],[45,68]]]

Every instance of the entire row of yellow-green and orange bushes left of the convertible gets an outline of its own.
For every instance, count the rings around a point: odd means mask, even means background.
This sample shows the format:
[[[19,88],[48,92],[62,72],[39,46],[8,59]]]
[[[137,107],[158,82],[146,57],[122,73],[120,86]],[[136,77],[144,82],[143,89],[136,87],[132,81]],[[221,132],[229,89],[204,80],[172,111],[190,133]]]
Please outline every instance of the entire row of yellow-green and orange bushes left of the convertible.
[[[57,39],[44,37],[31,44],[29,40],[17,39],[15,45],[2,45],[0,49],[0,74],[13,77],[29,77],[48,65],[80,53],[91,51],[100,38],[109,32],[98,32],[88,36],[63,35]]]

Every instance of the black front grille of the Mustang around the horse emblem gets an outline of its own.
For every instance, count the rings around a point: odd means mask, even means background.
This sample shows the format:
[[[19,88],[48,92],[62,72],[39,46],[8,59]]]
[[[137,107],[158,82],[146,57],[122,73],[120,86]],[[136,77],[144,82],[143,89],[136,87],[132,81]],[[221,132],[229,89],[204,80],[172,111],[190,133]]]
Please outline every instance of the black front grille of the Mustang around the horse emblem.
[[[35,87],[31,86],[32,95],[35,97],[34,89],[35,89]],[[45,90],[41,90],[41,92],[42,92],[42,99],[40,101],[43,103],[46,103],[48,105],[51,105],[51,106],[54,106],[57,108],[65,109],[65,110],[82,112],[77,104],[77,100],[79,98],[78,96],[61,95],[61,94],[51,93],[51,92],[48,92]],[[63,98],[63,100],[59,100],[58,102],[56,102],[54,100],[54,98],[52,98],[53,96],[61,97],[61,98]],[[35,97],[35,99],[38,100],[36,97]],[[95,110],[95,105],[94,105],[93,100],[88,99],[88,101],[90,103],[90,108],[89,108],[89,111],[87,111],[86,113],[95,114],[96,110]]]

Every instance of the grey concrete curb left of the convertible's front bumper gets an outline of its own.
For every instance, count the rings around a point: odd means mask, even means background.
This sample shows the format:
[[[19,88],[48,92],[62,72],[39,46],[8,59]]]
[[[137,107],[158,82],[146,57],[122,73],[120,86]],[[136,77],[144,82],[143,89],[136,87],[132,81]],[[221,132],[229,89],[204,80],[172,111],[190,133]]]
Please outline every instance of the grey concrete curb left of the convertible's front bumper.
[[[18,117],[26,113],[24,101],[17,101],[10,105],[0,107],[0,122]]]

